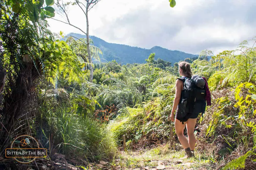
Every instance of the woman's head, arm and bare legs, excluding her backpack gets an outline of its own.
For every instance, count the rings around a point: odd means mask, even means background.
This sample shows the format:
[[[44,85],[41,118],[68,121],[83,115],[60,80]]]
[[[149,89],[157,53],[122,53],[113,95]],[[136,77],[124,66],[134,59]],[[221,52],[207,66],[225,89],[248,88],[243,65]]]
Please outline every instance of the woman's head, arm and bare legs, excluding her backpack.
[[[190,64],[182,61],[179,63],[179,74],[182,77],[185,78],[191,78],[192,77],[192,72],[190,69]],[[174,111],[176,110],[178,103],[180,101],[181,98],[181,93],[182,93],[182,89],[183,89],[183,81],[177,79],[175,82],[175,99],[173,101],[173,108],[172,108],[172,113],[170,115],[170,120],[174,121]],[[186,155],[188,157],[192,157],[194,156],[194,148],[195,148],[195,143],[196,143],[196,138],[194,135],[194,128],[196,125],[196,120],[197,120],[198,114],[188,114],[187,116],[187,120],[184,121],[184,124],[177,119],[177,114],[175,116],[175,132],[178,136],[178,139],[182,145],[182,147],[185,149],[186,151]],[[187,126],[187,134],[188,134],[188,140],[187,138],[184,136],[183,131],[185,128],[185,125]]]

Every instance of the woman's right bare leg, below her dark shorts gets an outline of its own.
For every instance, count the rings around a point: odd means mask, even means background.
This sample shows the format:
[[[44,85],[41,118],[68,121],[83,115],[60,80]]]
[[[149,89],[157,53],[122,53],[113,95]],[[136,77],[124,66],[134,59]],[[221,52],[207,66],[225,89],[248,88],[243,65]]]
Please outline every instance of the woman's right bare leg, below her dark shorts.
[[[188,133],[188,143],[191,150],[195,149],[196,145],[196,138],[194,135],[194,129],[196,126],[196,120],[197,119],[188,119],[187,121],[187,133]]]

